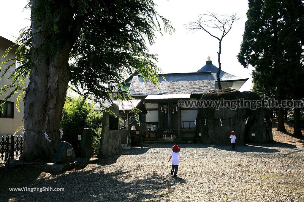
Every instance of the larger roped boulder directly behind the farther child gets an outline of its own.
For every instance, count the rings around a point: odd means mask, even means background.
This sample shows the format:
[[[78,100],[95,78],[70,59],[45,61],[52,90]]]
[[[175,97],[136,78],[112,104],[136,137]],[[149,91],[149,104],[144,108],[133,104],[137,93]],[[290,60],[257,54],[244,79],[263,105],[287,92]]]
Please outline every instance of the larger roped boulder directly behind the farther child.
[[[221,98],[224,100],[236,100],[242,97],[242,92],[225,88],[209,91],[202,96],[201,100],[221,100]],[[196,120],[195,141],[208,144],[229,144],[230,132],[234,131],[237,136],[237,143],[243,143],[245,114],[245,108],[199,108]]]

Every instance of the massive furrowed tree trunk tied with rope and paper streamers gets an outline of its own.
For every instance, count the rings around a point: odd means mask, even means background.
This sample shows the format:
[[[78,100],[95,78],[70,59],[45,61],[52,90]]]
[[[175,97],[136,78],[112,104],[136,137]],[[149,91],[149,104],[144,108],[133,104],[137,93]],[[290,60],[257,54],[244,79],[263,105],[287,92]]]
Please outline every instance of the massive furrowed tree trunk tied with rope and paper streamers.
[[[32,1],[32,3],[34,0]],[[32,33],[39,30],[33,26]],[[35,65],[29,76],[24,106],[24,145],[21,160],[46,159],[55,154],[60,143],[60,118],[67,92],[68,56],[66,46],[50,57],[43,51],[35,53],[47,38],[43,34],[32,36],[32,60]],[[49,142],[44,132],[47,132]]]

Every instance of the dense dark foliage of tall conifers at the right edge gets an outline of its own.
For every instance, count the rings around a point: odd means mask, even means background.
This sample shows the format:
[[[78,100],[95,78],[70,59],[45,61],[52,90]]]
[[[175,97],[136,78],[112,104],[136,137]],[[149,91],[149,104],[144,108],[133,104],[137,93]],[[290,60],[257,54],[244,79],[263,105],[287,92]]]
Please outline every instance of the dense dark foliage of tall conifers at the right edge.
[[[249,0],[248,5],[238,60],[245,68],[254,66],[254,91],[277,99],[302,98],[303,1]]]

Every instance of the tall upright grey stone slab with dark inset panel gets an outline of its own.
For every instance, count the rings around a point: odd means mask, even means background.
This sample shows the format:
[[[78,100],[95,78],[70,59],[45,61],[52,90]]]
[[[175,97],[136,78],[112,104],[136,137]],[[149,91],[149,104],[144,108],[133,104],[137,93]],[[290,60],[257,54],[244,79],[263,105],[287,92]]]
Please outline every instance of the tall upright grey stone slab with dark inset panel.
[[[121,135],[119,133],[119,108],[112,104],[109,110],[114,115],[104,111],[102,116],[102,132],[99,147],[99,155],[121,154]]]

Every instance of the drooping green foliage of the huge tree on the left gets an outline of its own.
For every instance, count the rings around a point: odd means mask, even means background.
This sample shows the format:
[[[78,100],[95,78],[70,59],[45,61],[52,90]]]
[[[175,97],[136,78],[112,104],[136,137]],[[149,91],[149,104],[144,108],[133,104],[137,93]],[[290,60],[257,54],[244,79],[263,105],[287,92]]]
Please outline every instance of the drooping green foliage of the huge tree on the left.
[[[25,78],[37,64],[66,53],[69,58],[64,60],[72,62],[64,77],[96,101],[110,101],[108,92],[117,92],[120,100],[130,99],[123,94],[123,81],[135,70],[144,81],[157,84],[161,70],[146,42],[153,44],[162,27],[169,33],[174,28],[157,13],[153,0],[32,0],[27,8],[32,25],[14,45],[18,48],[13,60],[19,59],[21,65],[11,74],[12,83],[0,89],[0,95],[14,89],[3,101],[26,90]]]

